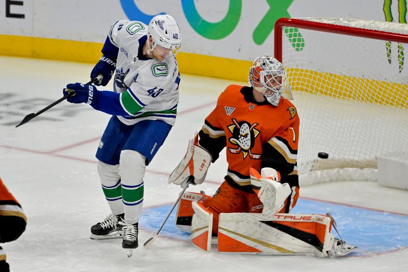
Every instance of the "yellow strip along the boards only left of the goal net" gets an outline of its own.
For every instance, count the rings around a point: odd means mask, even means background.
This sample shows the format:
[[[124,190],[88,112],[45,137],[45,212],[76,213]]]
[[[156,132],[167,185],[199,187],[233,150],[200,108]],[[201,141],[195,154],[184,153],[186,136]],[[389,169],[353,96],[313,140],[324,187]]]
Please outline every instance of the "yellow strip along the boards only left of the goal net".
[[[96,63],[103,43],[0,35],[0,54],[12,57]],[[246,82],[250,61],[180,52],[181,73]]]

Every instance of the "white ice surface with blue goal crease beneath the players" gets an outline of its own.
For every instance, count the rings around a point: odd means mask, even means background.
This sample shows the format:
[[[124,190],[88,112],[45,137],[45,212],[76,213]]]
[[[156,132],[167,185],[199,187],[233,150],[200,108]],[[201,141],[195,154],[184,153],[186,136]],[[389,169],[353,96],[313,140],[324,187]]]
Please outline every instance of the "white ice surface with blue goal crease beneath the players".
[[[87,82],[92,64],[0,57],[0,176],[28,217],[16,241],[1,244],[12,271],[407,271],[408,191],[376,182],[332,182],[303,187],[293,212],[333,214],[343,238],[359,249],[341,259],[210,253],[196,249],[171,217],[153,237],[180,187],[167,177],[193,131],[233,82],[182,75],[175,127],[147,167],[140,247],[131,258],[121,240],[93,241],[90,227],[109,214],[94,154],[109,116],[67,102],[25,125],[22,118],[62,97],[72,82]],[[238,83],[245,84],[245,83]],[[111,85],[99,89],[111,89]],[[207,181],[192,191],[212,195],[221,183],[224,155]]]

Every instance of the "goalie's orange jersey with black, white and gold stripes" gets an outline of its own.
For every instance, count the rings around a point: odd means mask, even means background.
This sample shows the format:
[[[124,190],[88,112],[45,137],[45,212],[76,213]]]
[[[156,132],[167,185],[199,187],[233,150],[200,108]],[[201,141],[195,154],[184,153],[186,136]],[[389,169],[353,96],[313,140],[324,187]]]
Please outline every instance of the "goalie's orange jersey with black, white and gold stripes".
[[[253,192],[249,168],[272,167],[282,183],[298,187],[297,147],[299,117],[295,106],[282,99],[277,107],[253,100],[252,88],[228,86],[199,132],[199,143],[213,156],[226,147],[225,180],[235,188]]]

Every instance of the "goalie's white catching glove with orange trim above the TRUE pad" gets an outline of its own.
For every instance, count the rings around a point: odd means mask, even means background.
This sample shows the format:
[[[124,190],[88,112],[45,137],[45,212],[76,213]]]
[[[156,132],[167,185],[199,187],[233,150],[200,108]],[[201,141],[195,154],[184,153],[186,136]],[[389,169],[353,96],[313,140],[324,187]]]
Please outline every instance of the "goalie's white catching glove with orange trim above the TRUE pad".
[[[249,168],[252,189],[257,193],[264,208],[262,214],[273,215],[282,209],[292,190],[288,183],[280,183],[281,175],[273,168],[261,169],[261,174]]]

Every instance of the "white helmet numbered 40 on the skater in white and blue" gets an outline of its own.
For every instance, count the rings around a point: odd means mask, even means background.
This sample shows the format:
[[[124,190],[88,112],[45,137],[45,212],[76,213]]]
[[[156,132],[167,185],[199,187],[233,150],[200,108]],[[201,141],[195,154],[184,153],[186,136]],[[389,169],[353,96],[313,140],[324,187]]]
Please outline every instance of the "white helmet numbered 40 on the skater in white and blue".
[[[171,49],[173,55],[179,52],[182,35],[177,22],[168,14],[159,14],[153,17],[147,29],[147,37],[152,37],[151,51],[156,45]]]

